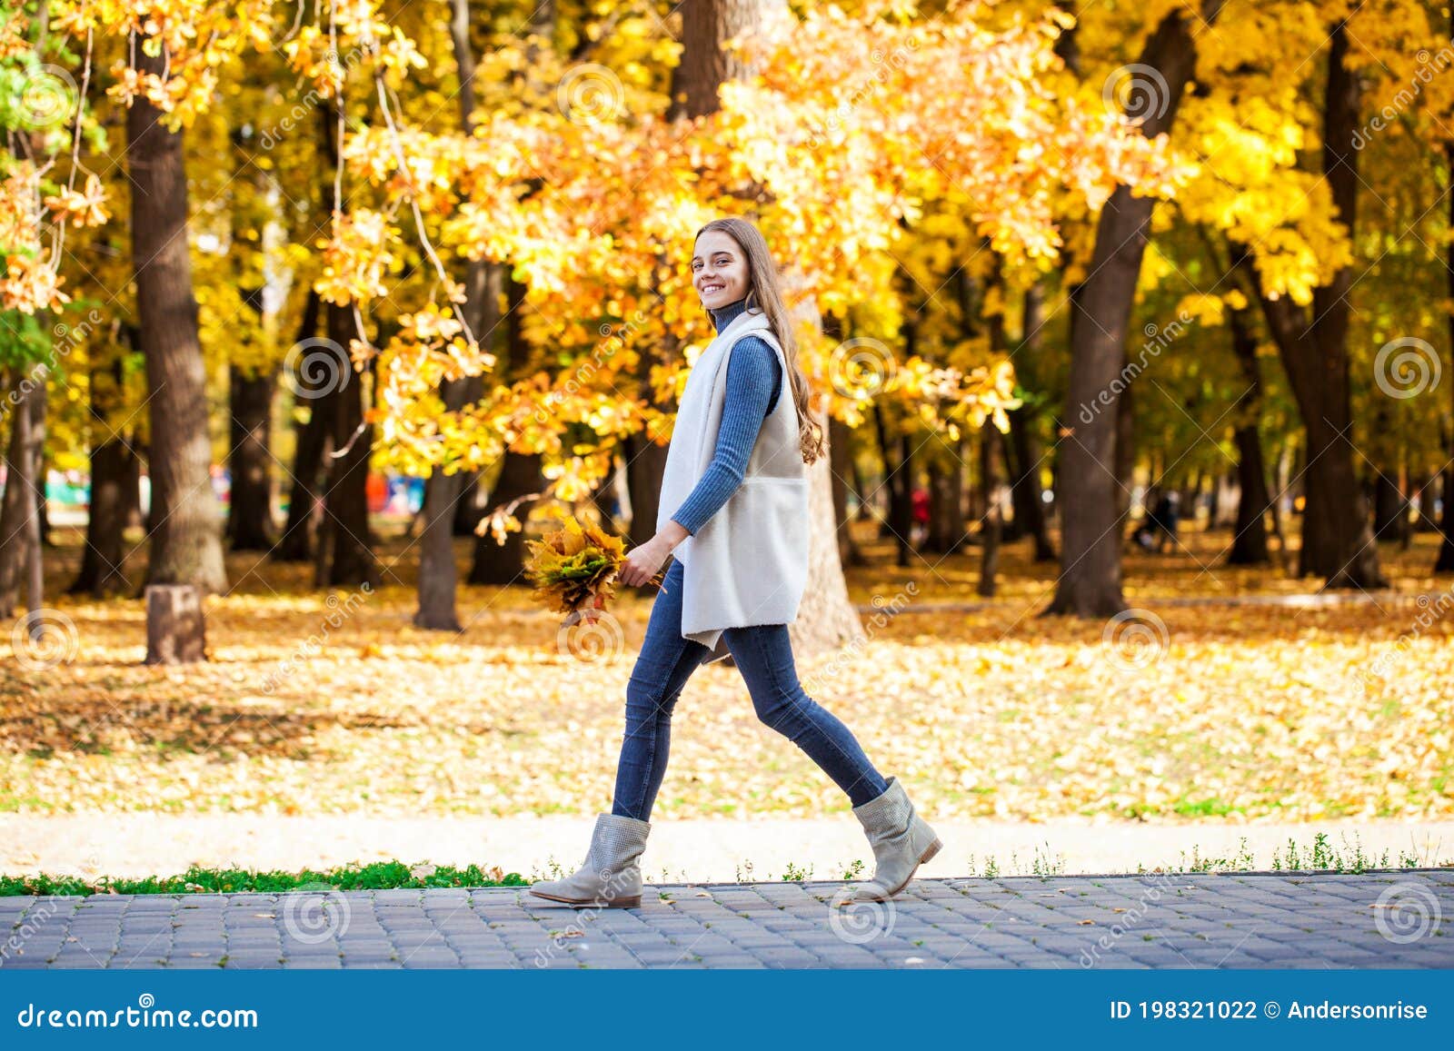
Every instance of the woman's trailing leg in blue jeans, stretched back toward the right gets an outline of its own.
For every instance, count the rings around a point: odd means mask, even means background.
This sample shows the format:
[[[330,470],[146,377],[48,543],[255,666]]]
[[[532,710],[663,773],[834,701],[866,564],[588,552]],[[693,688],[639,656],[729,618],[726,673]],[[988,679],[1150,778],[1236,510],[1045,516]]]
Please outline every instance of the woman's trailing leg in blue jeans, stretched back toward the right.
[[[728,628],[723,637],[759,720],[803,749],[855,807],[884,794],[888,782],[868,762],[858,738],[798,683],[788,625]]]

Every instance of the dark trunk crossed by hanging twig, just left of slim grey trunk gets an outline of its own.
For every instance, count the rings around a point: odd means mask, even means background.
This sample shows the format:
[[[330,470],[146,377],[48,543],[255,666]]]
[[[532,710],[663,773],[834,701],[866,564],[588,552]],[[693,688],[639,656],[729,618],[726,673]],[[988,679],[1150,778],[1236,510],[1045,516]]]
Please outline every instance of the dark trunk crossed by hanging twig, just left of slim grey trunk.
[[[323,496],[323,542],[327,557],[318,564],[318,587],[378,587],[378,560],[368,523],[368,461],[374,427],[364,423],[364,376],[349,361],[349,342],[358,334],[353,310],[329,304],[329,339],[343,347],[339,359],[339,397],[333,403],[333,455]],[[345,452],[342,456],[340,452]]]

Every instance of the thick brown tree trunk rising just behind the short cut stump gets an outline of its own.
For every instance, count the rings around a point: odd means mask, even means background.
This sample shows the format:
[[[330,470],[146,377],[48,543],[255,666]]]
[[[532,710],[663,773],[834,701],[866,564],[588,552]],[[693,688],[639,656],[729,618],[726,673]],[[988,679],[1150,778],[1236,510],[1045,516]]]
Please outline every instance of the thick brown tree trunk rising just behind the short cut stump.
[[[166,76],[167,55],[131,49],[140,73]],[[188,185],[182,132],[138,94],[126,112],[131,167],[131,243],[141,352],[147,359],[151,422],[153,584],[227,589],[222,531],[212,494],[212,440],[206,429],[206,371],[198,339],[188,247]]]

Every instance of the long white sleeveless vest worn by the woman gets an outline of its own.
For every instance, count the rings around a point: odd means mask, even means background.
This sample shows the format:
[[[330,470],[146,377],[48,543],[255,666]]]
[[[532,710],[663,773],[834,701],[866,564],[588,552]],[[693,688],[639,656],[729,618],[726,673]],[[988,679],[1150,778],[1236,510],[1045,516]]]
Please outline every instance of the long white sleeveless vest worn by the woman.
[[[682,563],[682,637],[714,663],[728,656],[726,628],[791,624],[808,576],[808,480],[788,363],[760,311],[743,311],[707,345],[682,392],[662,474],[660,531],[691,496],[717,449],[733,345],[756,336],[778,355],[782,387],[762,422],[742,484],[672,557]]]

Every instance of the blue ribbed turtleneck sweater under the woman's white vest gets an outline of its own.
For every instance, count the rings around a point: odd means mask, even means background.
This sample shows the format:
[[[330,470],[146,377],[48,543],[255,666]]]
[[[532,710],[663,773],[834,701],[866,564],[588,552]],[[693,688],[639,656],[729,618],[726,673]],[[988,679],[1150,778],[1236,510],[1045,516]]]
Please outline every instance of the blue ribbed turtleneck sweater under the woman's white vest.
[[[743,297],[720,310],[708,310],[712,327],[720,333],[747,308]],[[692,487],[691,494],[672,519],[695,535],[737,491],[747,471],[747,458],[758,443],[758,432],[768,413],[778,404],[782,388],[782,366],[778,355],[756,336],[746,336],[733,345],[727,359],[727,398],[723,422],[717,430],[712,462]]]

